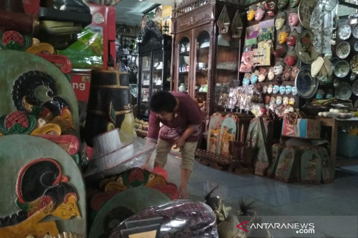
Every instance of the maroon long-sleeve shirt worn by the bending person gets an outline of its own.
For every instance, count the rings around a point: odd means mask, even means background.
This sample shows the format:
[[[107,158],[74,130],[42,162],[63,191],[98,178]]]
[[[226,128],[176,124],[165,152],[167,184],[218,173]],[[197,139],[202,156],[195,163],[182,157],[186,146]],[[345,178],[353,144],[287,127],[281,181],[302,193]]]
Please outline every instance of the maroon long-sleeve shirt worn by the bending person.
[[[174,143],[188,126],[196,130],[185,140],[186,142],[199,141],[202,131],[202,115],[199,105],[186,93],[171,92],[179,100],[179,108],[175,112],[175,117],[171,121],[161,120],[156,113],[150,112],[147,140],[157,141],[158,136],[161,140]],[[160,122],[163,126],[160,128]]]

